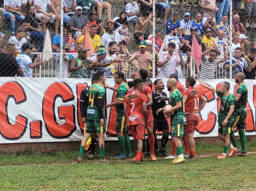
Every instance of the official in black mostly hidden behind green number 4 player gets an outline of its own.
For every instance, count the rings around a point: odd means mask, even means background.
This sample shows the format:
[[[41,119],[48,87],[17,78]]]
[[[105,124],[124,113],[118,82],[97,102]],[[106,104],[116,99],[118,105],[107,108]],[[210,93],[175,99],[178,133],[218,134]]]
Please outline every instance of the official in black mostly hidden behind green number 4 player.
[[[91,80],[91,85],[96,83],[96,79],[93,77]],[[85,124],[86,123],[86,113],[87,113],[87,108],[88,108],[88,103],[89,102],[89,97],[88,97],[88,91],[90,87],[87,87],[81,91],[80,94],[80,112],[81,112],[81,121]],[[85,129],[84,129],[84,135],[85,135]],[[89,146],[89,149],[87,150],[87,156],[89,159],[92,159],[95,152],[95,147],[96,147],[96,142],[97,142],[97,133],[92,133],[91,134],[91,144]],[[86,142],[87,143],[87,142]]]

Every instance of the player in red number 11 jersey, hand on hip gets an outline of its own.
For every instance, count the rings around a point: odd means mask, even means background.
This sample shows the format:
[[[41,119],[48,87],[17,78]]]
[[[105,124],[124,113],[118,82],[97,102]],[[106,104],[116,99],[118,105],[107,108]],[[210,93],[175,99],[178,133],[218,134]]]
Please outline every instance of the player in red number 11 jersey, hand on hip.
[[[193,138],[193,134],[197,129],[199,112],[205,107],[206,99],[194,88],[196,84],[195,78],[188,76],[185,84],[187,89],[183,92],[183,101],[185,104],[187,125],[184,125],[184,132],[188,139],[189,159],[195,159],[195,139]],[[199,105],[200,101],[201,104]]]

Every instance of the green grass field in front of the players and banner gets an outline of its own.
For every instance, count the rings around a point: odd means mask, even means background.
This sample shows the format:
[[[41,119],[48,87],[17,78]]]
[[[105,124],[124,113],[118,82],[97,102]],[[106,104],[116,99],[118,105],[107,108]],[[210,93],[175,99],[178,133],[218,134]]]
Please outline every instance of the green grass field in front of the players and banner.
[[[76,163],[78,151],[0,155],[0,190],[256,190],[256,141],[246,157],[218,160],[223,147],[197,141],[197,160],[172,165],[170,160]],[[169,149],[169,148],[168,148]]]

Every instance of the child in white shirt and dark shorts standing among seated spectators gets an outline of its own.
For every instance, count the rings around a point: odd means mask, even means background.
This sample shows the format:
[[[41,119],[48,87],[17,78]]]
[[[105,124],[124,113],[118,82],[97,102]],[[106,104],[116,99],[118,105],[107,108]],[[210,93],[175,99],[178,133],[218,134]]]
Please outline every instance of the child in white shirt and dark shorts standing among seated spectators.
[[[129,24],[128,21],[125,21],[121,26],[119,26],[116,29],[116,32],[120,34],[121,46],[123,50],[126,52],[126,54],[129,55],[128,46],[129,46],[130,38],[128,37],[129,36],[129,31],[127,28],[128,24]]]

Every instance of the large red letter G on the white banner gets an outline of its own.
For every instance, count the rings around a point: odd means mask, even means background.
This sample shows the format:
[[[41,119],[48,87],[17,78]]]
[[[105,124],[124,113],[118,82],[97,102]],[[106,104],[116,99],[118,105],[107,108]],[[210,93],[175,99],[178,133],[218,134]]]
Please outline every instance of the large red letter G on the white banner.
[[[45,92],[43,98],[43,120],[47,132],[56,139],[69,137],[75,130],[75,106],[65,105],[58,107],[59,119],[65,123],[59,124],[56,121],[55,102],[60,97],[64,103],[74,100],[74,94],[68,84],[56,82],[51,84]]]

